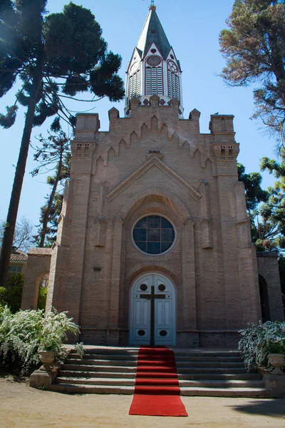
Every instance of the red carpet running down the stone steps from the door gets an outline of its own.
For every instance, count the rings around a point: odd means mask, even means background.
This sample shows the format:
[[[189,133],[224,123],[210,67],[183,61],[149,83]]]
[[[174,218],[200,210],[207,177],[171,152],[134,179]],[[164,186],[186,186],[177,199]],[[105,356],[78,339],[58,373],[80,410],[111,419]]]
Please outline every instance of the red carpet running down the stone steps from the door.
[[[129,414],[188,416],[179,396],[174,353],[166,347],[140,347]]]

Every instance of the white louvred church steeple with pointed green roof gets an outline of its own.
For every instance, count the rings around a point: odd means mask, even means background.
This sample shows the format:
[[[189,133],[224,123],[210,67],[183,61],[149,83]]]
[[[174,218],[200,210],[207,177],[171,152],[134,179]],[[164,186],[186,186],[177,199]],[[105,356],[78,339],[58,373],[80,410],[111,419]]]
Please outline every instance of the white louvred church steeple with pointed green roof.
[[[125,115],[130,114],[130,99],[139,98],[142,105],[150,103],[150,97],[160,97],[160,105],[172,99],[180,101],[182,117],[181,68],[170,45],[154,2],[143,26],[138,44],[133,51],[126,78]]]

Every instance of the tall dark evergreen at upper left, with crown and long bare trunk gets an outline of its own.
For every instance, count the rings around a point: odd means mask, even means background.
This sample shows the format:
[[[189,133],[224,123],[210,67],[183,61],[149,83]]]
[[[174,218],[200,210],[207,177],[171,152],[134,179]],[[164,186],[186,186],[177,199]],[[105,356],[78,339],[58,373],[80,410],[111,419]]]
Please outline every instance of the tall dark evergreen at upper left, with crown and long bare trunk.
[[[6,107],[6,115],[0,115],[0,125],[12,126],[18,104],[26,107],[0,257],[2,286],[8,276],[32,127],[55,114],[74,124],[64,101],[77,93],[90,92],[94,98],[108,96],[110,101],[124,95],[123,81],[117,74],[121,58],[107,50],[100,25],[90,10],[71,2],[61,13],[46,16],[46,3],[0,1],[0,97],[16,81],[21,82],[14,105]]]

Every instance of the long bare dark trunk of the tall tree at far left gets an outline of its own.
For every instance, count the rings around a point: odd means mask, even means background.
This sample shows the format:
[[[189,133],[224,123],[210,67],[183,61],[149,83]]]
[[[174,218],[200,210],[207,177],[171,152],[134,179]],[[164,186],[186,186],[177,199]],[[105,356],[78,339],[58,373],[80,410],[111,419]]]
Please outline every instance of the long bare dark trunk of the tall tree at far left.
[[[0,286],[2,287],[5,287],[6,280],[9,275],[10,255],[11,255],[11,249],[13,245],[16,219],[17,219],[17,213],[18,213],[19,202],[21,197],[21,188],[23,185],[23,180],[24,180],[24,175],[26,170],[26,160],[28,158],[28,146],[30,144],[31,131],[33,128],[33,117],[35,115],[35,109],[36,109],[36,97],[41,84],[42,66],[43,66],[43,51],[41,51],[41,53],[38,54],[35,73],[32,79],[31,95],[28,101],[28,111],[26,113],[26,121],[25,121],[24,132],[21,140],[21,148],[19,152],[18,163],[16,166],[16,173],[15,173],[13,188],[11,192],[9,210],[8,210],[6,225],[4,229],[4,237],[3,237],[1,257],[0,257]]]

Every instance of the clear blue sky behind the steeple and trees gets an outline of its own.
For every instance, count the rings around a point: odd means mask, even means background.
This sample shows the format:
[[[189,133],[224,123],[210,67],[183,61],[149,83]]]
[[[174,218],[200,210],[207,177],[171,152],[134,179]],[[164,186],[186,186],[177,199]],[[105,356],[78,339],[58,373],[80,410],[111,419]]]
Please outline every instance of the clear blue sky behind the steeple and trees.
[[[48,0],[48,11],[59,12],[66,0]],[[103,37],[109,49],[123,57],[120,76],[125,80],[125,70],[130,61],[140,31],[145,22],[150,0],[74,0],[90,9],[103,29]],[[185,118],[193,108],[201,112],[201,132],[209,132],[209,115],[234,114],[236,140],[240,143],[238,161],[246,166],[247,172],[259,170],[262,156],[274,157],[274,141],[264,133],[261,123],[251,120],[254,111],[252,88],[229,88],[219,77],[224,59],[219,52],[219,31],[226,27],[225,20],[232,11],[233,0],[155,0],[157,14],[165,29],[170,44],[182,66],[182,91]],[[0,111],[14,103],[13,89],[0,98]],[[73,103],[74,111],[94,108],[99,113],[101,131],[108,130],[108,110],[115,106],[123,116],[124,102]],[[8,210],[11,187],[14,180],[14,165],[17,162],[21,134],[23,131],[24,110],[19,109],[15,125],[9,130],[0,130],[1,158],[0,182],[1,204],[0,220],[5,220]],[[33,130],[34,136],[46,133],[48,122]],[[39,210],[48,193],[45,175],[31,178],[34,167],[33,151],[30,149],[26,167],[26,177],[21,194],[18,218],[25,216],[38,224]],[[272,178],[264,174],[264,187],[271,185]]]

